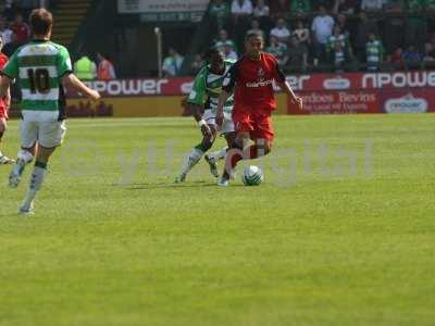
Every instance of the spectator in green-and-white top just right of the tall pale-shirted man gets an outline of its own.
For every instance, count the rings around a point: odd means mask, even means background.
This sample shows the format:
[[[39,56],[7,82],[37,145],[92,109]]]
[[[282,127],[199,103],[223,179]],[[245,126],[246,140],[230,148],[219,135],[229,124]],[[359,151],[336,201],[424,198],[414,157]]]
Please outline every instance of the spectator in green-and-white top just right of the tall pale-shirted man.
[[[341,70],[345,62],[351,58],[351,48],[348,37],[341,32],[338,25],[334,26],[334,33],[327,38],[326,53],[330,63],[334,63],[337,70]]]

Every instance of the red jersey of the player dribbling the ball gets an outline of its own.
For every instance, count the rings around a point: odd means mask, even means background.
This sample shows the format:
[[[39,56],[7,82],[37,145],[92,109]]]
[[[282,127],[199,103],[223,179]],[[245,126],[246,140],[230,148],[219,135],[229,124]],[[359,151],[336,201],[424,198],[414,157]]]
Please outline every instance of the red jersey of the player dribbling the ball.
[[[259,61],[241,57],[225,76],[223,89],[231,92],[236,87],[234,111],[248,106],[270,112],[276,108],[273,80],[285,82],[285,75],[275,57],[262,52]]]

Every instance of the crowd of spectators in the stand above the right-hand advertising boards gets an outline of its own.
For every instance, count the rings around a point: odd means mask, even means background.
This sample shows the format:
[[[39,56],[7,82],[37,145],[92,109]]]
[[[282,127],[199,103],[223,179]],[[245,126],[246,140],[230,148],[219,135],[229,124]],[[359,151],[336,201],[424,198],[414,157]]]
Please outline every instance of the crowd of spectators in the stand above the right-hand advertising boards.
[[[258,33],[287,72],[435,66],[435,0],[212,0],[209,18],[227,57]]]

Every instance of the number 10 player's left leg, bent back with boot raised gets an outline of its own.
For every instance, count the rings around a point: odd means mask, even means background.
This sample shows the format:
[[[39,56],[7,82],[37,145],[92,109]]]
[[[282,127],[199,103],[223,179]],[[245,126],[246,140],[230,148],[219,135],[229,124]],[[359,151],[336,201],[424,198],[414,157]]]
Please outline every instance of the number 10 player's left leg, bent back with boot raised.
[[[24,168],[34,160],[36,142],[38,139],[38,125],[35,122],[20,123],[21,149],[16,155],[15,164],[9,175],[9,186],[16,188],[21,181]]]

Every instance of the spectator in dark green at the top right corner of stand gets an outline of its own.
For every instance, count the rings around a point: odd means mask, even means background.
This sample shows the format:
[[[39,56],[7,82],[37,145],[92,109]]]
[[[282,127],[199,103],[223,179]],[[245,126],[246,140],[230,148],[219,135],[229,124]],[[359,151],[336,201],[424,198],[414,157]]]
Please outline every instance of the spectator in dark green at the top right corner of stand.
[[[425,18],[424,8],[426,0],[408,0],[407,9],[410,16],[406,23],[406,43],[417,45],[419,51],[424,50],[426,40],[427,20]]]

